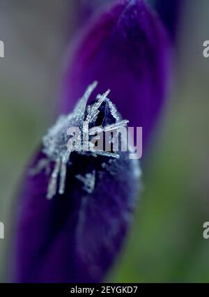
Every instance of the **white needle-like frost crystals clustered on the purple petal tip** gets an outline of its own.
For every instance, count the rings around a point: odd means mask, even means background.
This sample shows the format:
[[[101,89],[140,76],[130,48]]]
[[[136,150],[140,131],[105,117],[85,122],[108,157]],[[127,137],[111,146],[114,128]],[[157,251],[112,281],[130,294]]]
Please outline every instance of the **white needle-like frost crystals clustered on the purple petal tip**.
[[[70,151],[67,146],[68,140],[70,139],[68,135],[68,129],[70,127],[83,129],[85,123],[85,127],[86,125],[87,127],[91,127],[91,133],[89,135],[94,135],[94,132],[98,132],[98,128],[100,132],[117,131],[128,123],[127,120],[121,120],[121,116],[118,114],[115,105],[107,98],[109,90],[102,95],[98,95],[94,103],[87,105],[88,98],[91,96],[97,84],[98,82],[93,82],[93,84],[88,86],[84,96],[77,102],[75,109],[68,115],[60,116],[52,128],[48,130],[47,135],[42,138],[42,151],[47,158],[40,160],[36,168],[31,169],[31,174],[37,174],[43,168],[45,168],[46,172],[49,172],[49,163],[54,163],[47,188],[47,199],[52,199],[52,197],[56,195],[56,191],[58,191],[60,195],[65,192],[67,167],[72,165],[70,162],[70,154],[72,151]],[[104,103],[105,107],[103,106]],[[105,114],[105,112],[107,112],[106,109],[108,109],[109,114],[111,114],[112,121],[107,119]],[[100,125],[98,126],[99,116],[102,116],[102,120],[100,119]],[[81,137],[80,140],[83,144],[83,137]],[[110,142],[113,143],[114,139],[110,139]],[[93,157],[103,155],[109,157],[110,162],[114,160],[114,158],[120,158],[120,154],[114,151],[102,151],[97,148],[91,148],[89,151],[81,150],[77,151],[77,153],[92,155]],[[95,170],[84,176],[77,174],[75,177],[84,184],[83,189],[86,190],[86,192],[93,192],[96,178]]]

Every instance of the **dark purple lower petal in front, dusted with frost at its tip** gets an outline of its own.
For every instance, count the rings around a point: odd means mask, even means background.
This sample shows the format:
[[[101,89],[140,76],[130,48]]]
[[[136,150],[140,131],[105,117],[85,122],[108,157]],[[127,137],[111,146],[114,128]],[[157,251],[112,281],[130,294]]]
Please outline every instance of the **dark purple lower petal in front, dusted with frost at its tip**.
[[[102,108],[102,106],[101,106]],[[110,109],[102,109],[111,123]],[[103,118],[98,120],[104,123]],[[101,123],[98,123],[100,125]],[[39,152],[30,165],[46,158]],[[111,161],[111,162],[110,162]],[[132,218],[139,168],[127,153],[119,159],[73,152],[64,195],[47,199],[45,171],[24,177],[17,211],[15,282],[100,282],[121,249]],[[51,162],[51,172],[54,166]],[[77,176],[95,172],[93,192]]]

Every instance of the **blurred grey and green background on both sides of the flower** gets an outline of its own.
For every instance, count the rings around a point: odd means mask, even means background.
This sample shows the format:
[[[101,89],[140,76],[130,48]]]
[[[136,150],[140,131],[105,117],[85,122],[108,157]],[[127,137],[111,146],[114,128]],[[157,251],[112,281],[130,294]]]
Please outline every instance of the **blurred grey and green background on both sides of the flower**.
[[[0,282],[13,246],[22,172],[54,122],[63,53],[84,22],[82,0],[0,0]],[[165,0],[167,1],[167,0]],[[85,1],[88,4],[93,1]],[[102,0],[98,0],[102,2]],[[104,0],[103,0],[104,2]],[[183,0],[176,80],[144,160],[144,192],[111,282],[209,282],[208,0]],[[93,7],[93,6],[92,6]],[[84,9],[84,10],[83,10]],[[87,14],[89,12],[87,11]]]

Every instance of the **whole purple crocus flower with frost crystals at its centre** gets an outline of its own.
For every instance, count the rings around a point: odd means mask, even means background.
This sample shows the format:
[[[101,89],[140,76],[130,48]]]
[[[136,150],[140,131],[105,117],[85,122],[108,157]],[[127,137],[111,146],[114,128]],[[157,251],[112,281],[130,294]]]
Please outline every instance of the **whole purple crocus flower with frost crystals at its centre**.
[[[129,119],[144,128],[147,143],[166,94],[169,52],[162,24],[142,0],[117,1],[79,34],[65,62],[65,116],[43,137],[24,176],[16,282],[104,280],[132,218],[139,163],[128,152],[66,155],[66,128],[84,119],[102,129]]]

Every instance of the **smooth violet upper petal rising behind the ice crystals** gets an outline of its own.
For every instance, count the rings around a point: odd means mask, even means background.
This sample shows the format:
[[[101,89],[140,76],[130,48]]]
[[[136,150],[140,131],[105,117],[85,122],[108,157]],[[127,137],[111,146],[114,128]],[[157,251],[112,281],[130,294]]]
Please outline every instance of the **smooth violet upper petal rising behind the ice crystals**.
[[[142,0],[123,0],[80,33],[65,69],[61,110],[69,112],[86,85],[98,80],[130,126],[143,127],[144,145],[167,94],[171,47]],[[71,49],[71,47],[70,47]]]

